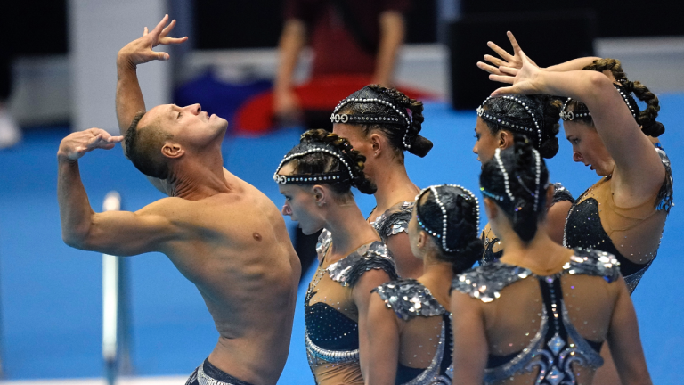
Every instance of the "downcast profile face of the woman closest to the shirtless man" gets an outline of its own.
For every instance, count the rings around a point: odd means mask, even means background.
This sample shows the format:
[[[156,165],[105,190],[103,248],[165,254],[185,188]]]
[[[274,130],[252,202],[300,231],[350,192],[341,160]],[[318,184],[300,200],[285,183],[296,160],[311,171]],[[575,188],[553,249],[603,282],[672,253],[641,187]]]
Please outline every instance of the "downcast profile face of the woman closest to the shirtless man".
[[[288,163],[281,168],[278,175],[288,176],[294,167]],[[314,188],[309,185],[278,184],[278,190],[285,197],[282,205],[282,215],[296,221],[302,233],[311,235],[321,230],[325,221],[320,206],[316,203]]]

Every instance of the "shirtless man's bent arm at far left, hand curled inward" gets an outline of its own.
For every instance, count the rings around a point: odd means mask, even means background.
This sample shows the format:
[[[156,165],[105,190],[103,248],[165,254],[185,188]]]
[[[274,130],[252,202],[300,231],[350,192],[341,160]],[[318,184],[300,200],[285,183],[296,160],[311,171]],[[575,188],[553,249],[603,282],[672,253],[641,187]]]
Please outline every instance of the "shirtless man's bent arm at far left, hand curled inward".
[[[110,150],[122,140],[122,136],[111,136],[102,129],[91,128],[73,133],[61,141],[57,152],[57,198],[62,238],[69,246],[129,256],[160,250],[163,242],[174,238],[175,226],[162,215],[166,205],[160,201],[135,213],[95,213],[91,208],[77,160],[85,152]]]

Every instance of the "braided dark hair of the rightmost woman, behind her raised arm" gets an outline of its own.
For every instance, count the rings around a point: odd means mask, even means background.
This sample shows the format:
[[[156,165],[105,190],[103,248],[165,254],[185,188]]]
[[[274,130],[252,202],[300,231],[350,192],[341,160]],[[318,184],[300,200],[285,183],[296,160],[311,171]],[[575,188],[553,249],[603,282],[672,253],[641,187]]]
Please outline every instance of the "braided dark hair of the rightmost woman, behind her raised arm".
[[[637,121],[639,126],[641,126],[641,132],[645,135],[658,137],[663,135],[665,132],[665,127],[662,123],[655,120],[658,117],[658,112],[660,112],[660,101],[658,97],[655,96],[647,86],[644,86],[639,81],[630,81],[625,75],[620,61],[617,59],[597,59],[590,65],[584,67],[582,70],[595,70],[598,72],[604,72],[609,70],[615,80],[618,82],[615,87],[624,94],[625,102],[627,102],[628,107],[630,107],[632,113],[635,115],[634,119]],[[646,102],[646,109],[644,111],[639,110],[639,106],[636,101],[631,98],[631,94],[634,94],[641,102]],[[567,103],[568,110],[573,109],[573,111],[587,110],[586,105],[580,101],[574,99]],[[583,122],[593,126],[594,121],[591,119],[591,115],[583,116],[582,118],[575,118],[576,120],[582,120]]]

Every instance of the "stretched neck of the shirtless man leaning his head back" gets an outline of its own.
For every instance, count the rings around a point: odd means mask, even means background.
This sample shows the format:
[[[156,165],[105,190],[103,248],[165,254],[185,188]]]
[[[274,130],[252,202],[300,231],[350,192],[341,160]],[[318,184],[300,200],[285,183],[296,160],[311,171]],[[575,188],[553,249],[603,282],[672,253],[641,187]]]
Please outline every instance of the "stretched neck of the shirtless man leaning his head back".
[[[223,162],[208,167],[202,163],[185,160],[173,165],[167,182],[171,185],[171,196],[189,201],[199,201],[218,193],[233,190],[224,175]]]

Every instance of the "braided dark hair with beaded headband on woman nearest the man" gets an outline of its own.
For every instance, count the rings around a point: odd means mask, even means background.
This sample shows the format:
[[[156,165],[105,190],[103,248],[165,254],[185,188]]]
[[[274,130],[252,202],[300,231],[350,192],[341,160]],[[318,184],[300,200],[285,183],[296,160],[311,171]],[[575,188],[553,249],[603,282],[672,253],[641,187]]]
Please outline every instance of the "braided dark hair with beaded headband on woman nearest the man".
[[[307,152],[314,148],[323,148],[328,152]],[[337,156],[332,153],[337,154]],[[290,160],[287,160],[289,157]],[[337,180],[322,181],[338,194],[350,194],[351,188],[356,187],[361,193],[372,194],[378,188],[363,173],[366,157],[354,150],[345,138],[330,133],[322,128],[311,129],[301,136],[299,144],[285,155],[284,162],[279,169],[291,163],[294,167],[292,176],[320,175],[334,172],[349,172],[351,177]]]

